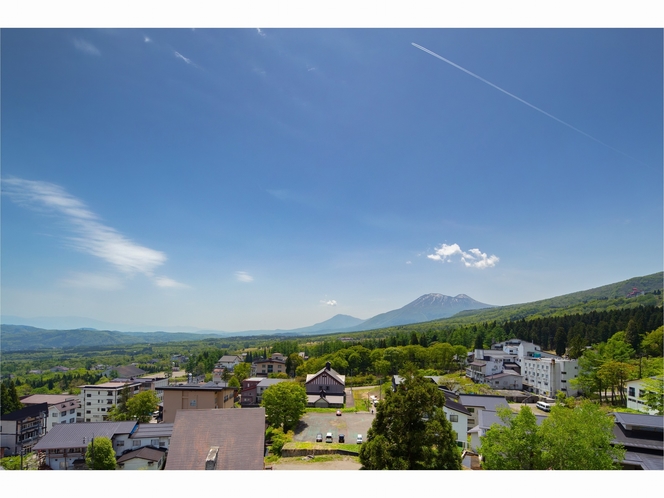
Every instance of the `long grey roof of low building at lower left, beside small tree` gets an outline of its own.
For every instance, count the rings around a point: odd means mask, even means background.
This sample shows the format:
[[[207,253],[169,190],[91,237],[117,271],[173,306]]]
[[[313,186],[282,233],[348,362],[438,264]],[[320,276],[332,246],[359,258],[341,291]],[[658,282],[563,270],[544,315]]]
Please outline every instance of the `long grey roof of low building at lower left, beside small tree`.
[[[57,424],[34,446],[34,449],[80,448],[87,446],[93,437],[111,439],[118,434],[131,434],[136,425],[136,422]]]

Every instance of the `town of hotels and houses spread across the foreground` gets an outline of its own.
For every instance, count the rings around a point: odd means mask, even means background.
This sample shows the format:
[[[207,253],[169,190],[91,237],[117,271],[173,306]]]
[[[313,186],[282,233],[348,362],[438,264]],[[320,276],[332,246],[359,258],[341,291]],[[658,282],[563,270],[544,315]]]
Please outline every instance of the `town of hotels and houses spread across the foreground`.
[[[662,327],[653,332],[660,343],[661,333]],[[609,344],[628,347],[624,334]],[[433,353],[435,346],[427,349]],[[394,350],[399,351],[388,354]],[[361,347],[354,351],[365,353]],[[330,361],[306,374],[301,385],[290,374],[309,360],[304,352],[246,359],[247,353],[221,356],[208,381],[191,372],[174,381],[178,367],[146,374],[136,366],[119,366],[113,370],[118,377],[81,385],[78,395],[24,396],[22,408],[7,413],[16,387],[3,384],[2,456],[18,457],[19,469],[52,470],[264,470],[278,469],[279,457],[357,457],[363,445],[371,444],[381,410],[403,388],[403,375],[414,375],[441,395],[459,468],[496,468],[483,454],[491,434],[510,427],[522,409],[532,411],[537,426],[557,410],[576,410],[584,389],[580,376],[589,374],[583,359],[557,356],[515,338],[454,355],[451,374],[402,371],[382,376],[375,386],[349,385]],[[178,364],[189,358],[173,355],[171,360]],[[67,370],[53,370],[58,369]],[[622,450],[610,468],[663,468],[661,384],[661,376],[620,383],[626,410],[602,414],[611,420],[607,451]],[[303,416],[306,429],[299,424]],[[309,444],[302,449],[302,443]]]

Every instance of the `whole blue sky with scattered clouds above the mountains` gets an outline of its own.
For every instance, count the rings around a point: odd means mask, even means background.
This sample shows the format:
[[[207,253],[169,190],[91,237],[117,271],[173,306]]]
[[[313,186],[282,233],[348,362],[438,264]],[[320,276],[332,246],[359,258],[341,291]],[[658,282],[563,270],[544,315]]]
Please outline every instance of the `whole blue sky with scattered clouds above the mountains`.
[[[660,29],[1,37],[4,315],[288,329],[662,270]]]

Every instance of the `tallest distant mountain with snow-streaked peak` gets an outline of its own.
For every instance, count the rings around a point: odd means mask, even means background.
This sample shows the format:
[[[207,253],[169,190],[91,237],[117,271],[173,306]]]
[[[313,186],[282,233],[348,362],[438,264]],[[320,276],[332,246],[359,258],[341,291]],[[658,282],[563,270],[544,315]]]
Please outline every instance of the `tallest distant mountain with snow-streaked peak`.
[[[410,323],[428,322],[446,318],[464,310],[493,308],[491,304],[480,303],[465,294],[451,297],[443,294],[425,294],[403,308],[381,313],[346,331],[372,330]]]

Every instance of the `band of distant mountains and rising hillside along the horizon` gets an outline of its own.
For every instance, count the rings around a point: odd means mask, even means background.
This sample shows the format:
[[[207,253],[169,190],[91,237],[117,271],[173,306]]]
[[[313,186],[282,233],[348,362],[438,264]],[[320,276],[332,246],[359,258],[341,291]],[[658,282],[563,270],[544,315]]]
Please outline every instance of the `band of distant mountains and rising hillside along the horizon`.
[[[652,293],[662,289],[664,275],[662,272],[634,277],[614,284],[589,289],[586,291],[566,294],[542,301],[509,306],[493,306],[475,301],[465,294],[455,297],[443,294],[425,294],[406,306],[381,313],[368,320],[362,320],[349,315],[335,315],[329,320],[309,327],[291,330],[247,330],[243,332],[223,332],[215,330],[200,330],[193,327],[165,327],[155,331],[156,327],[143,327],[138,331],[118,331],[126,325],[108,324],[104,322],[81,318],[34,318],[26,319],[16,316],[3,315],[0,317],[3,351],[16,351],[22,349],[37,349],[44,347],[76,347],[76,346],[104,346],[113,344],[132,343],[158,343],[171,341],[199,340],[205,337],[246,337],[256,335],[279,336],[306,336],[323,335],[331,333],[361,332],[399,325],[428,322],[445,319],[448,323],[472,323],[476,321],[515,320],[540,314],[549,316],[561,310],[570,310],[572,313],[583,313],[585,303],[596,300],[617,299],[611,306],[628,305],[630,296],[640,293]],[[636,290],[635,290],[636,289]],[[661,305],[661,294],[659,302]],[[647,296],[646,296],[647,297]],[[626,299],[627,298],[627,299]],[[654,296],[650,296],[655,300]],[[643,299],[643,298],[639,298]],[[622,304],[621,304],[622,303]],[[594,309],[594,308],[593,308]],[[48,324],[69,324],[76,326],[53,327]],[[434,322],[436,323],[436,322]],[[100,327],[101,325],[101,327]],[[98,330],[99,327],[101,330]],[[66,330],[62,330],[66,329]],[[114,330],[115,329],[115,330]]]

